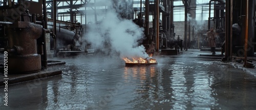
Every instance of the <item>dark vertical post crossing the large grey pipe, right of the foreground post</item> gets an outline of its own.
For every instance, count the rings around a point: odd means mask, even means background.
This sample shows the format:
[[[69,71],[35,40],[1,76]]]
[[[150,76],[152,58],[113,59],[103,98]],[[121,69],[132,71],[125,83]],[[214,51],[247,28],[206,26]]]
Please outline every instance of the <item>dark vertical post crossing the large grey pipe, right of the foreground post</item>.
[[[57,28],[56,28],[56,0],[53,1],[53,32],[55,35],[54,39],[54,56],[57,56]]]

